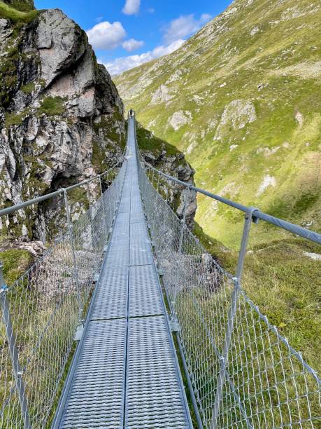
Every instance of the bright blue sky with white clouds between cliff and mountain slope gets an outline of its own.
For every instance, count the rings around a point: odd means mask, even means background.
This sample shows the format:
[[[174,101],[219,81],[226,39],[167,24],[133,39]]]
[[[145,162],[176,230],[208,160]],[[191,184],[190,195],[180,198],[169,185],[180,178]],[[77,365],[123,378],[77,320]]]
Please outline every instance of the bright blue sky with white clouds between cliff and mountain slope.
[[[231,0],[35,0],[59,8],[87,31],[111,74],[170,53]]]

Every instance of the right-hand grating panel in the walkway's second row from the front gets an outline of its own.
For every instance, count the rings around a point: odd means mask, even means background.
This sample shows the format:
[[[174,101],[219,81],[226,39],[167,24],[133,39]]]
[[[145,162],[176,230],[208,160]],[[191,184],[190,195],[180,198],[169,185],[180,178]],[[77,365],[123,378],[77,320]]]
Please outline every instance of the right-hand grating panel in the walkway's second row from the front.
[[[154,265],[129,268],[129,317],[164,314]]]

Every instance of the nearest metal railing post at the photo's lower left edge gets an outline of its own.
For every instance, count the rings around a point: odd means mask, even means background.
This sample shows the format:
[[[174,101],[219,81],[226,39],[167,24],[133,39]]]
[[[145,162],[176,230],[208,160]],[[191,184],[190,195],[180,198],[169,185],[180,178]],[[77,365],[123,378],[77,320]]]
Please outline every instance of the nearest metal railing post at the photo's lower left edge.
[[[17,388],[17,393],[19,395],[21,413],[24,421],[24,429],[31,429],[26,390],[24,387],[24,382],[22,380],[23,372],[21,371],[20,365],[19,365],[16,339],[15,339],[15,334],[13,332],[13,324],[10,316],[8,299],[6,297],[7,290],[8,290],[8,287],[4,284],[4,280],[3,280],[3,264],[0,261],[0,306],[1,306],[1,312],[2,312],[2,320],[3,320],[3,325],[5,326],[5,329],[6,329],[6,337],[8,341],[11,362],[13,365],[13,376],[15,377],[15,386]]]

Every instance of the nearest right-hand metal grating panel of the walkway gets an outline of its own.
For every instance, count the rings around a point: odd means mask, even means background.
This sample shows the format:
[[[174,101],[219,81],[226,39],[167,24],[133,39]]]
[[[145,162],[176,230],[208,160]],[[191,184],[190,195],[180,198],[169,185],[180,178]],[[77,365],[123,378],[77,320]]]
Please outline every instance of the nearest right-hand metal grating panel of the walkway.
[[[125,428],[190,428],[165,316],[129,319]]]

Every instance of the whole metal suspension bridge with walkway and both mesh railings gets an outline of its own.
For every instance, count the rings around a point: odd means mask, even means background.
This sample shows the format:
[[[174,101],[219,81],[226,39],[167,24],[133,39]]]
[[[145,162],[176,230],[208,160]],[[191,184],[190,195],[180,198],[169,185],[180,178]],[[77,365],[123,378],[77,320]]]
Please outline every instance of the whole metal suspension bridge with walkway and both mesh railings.
[[[320,377],[241,287],[253,223],[320,234],[159,172],[128,124],[115,167],[0,210],[56,198],[67,225],[14,285],[0,268],[0,427],[320,427]],[[167,203],[173,184],[183,219]],[[76,188],[90,209],[73,221]],[[187,228],[191,192],[245,214],[234,275]]]

